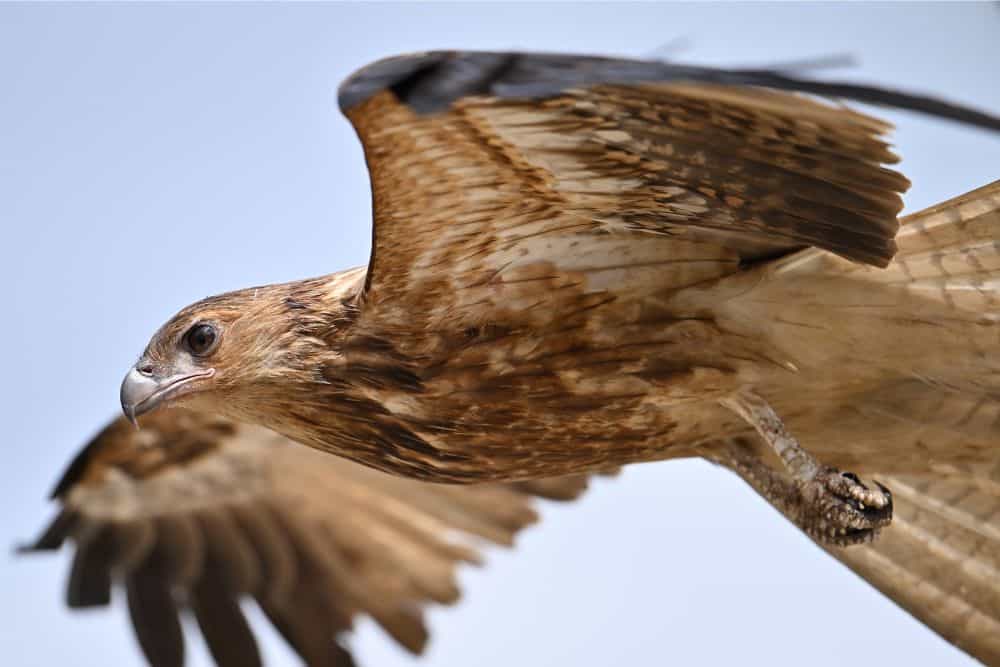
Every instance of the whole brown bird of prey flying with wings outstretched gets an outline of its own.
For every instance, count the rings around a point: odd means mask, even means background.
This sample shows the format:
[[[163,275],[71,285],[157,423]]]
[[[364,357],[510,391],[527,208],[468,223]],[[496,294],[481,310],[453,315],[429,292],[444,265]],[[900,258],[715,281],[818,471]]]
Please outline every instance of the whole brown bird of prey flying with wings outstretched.
[[[1000,660],[1000,181],[899,220],[890,126],[816,96],[1000,130],[934,98],[767,70],[453,51],[363,68],[339,101],[371,175],[369,264],[171,318],[122,383],[145,430],[119,420],[85,450],[35,546],[77,541],[71,603],[105,603],[124,573],[154,664],[179,660],[179,605],[220,663],[252,664],[240,594],[307,662],[341,664],[327,640],[354,614],[416,649],[410,605],[454,598],[462,558],[427,507],[510,509],[478,519],[504,542],[530,495],[701,457]],[[204,497],[178,491],[189,481]],[[378,518],[332,519],[325,493]],[[275,526],[289,510],[274,494],[315,508],[313,535]],[[398,503],[420,511],[387,518]],[[160,525],[176,513],[197,530]],[[390,548],[414,526],[407,539],[442,549],[434,574]],[[299,544],[318,532],[325,560]],[[272,575],[286,566],[329,569],[302,598],[322,613],[270,602],[274,581],[300,581]]]

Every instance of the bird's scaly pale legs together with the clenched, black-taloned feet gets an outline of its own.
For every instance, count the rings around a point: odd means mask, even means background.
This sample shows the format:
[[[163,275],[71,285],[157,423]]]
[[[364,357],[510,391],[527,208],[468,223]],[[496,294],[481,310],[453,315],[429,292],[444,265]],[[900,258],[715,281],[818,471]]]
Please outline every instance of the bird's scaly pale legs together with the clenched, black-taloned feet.
[[[723,462],[811,537],[838,545],[873,539],[892,520],[892,494],[866,486],[858,476],[822,465],[785,429],[761,397],[741,390],[720,401],[756,429],[787,474],[772,470],[751,451],[732,446]]]

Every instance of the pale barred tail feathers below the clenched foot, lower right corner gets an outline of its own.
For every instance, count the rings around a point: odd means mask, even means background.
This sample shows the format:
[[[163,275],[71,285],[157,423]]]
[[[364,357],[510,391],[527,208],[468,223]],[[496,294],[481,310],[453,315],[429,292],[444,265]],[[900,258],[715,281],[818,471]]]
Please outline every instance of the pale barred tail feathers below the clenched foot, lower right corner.
[[[892,525],[872,544],[827,550],[947,641],[1000,664],[997,474],[882,481]]]

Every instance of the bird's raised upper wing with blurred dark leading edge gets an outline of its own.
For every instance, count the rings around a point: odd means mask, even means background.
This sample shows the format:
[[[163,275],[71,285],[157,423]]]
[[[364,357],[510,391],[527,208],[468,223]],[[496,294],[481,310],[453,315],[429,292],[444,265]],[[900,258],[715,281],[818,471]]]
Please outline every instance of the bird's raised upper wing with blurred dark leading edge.
[[[523,53],[380,61],[340,91],[371,172],[367,305],[387,324],[428,302],[475,320],[496,306],[484,288],[574,272],[603,284],[657,263],[669,288],[803,246],[886,265],[908,187],[884,166],[896,161],[889,125],[778,89],[1000,129],[938,100],[759,70]]]

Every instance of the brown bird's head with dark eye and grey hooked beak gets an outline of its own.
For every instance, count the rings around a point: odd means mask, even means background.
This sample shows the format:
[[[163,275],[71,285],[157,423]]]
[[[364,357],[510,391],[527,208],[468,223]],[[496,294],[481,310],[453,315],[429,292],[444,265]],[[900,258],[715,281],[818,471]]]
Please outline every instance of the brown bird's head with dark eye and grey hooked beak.
[[[329,342],[332,282],[300,281],[209,297],[157,331],[121,386],[125,416],[167,405],[246,419],[294,384]],[[335,285],[336,286],[336,285]]]

